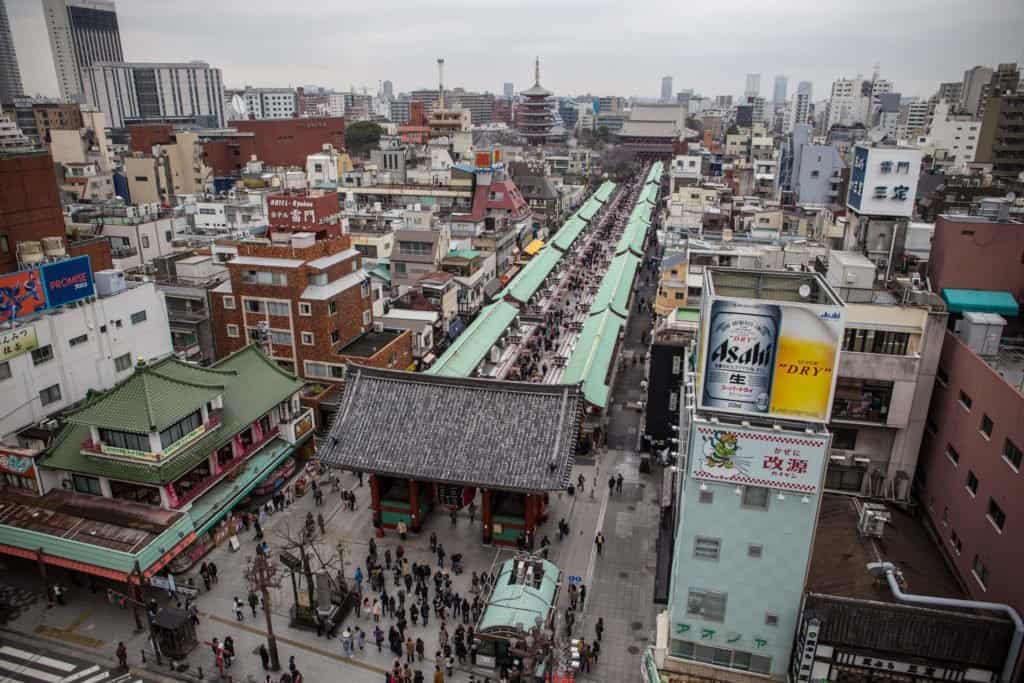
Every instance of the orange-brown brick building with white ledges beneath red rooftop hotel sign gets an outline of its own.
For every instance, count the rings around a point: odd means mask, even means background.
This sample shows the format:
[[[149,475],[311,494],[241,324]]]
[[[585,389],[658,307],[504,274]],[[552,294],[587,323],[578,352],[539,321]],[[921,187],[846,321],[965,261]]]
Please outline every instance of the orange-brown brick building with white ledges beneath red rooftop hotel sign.
[[[243,242],[238,253],[210,295],[218,356],[265,343],[281,366],[316,381],[340,380],[349,361],[412,365],[409,333],[374,330],[370,282],[348,237],[300,232],[272,245]]]

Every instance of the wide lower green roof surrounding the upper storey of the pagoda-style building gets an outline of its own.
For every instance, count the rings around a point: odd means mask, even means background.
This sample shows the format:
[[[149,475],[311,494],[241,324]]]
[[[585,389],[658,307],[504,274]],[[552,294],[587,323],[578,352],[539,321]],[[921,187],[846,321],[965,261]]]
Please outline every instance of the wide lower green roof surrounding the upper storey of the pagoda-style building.
[[[165,361],[166,362],[166,361]],[[164,369],[164,375],[185,374],[193,367],[174,361],[173,369]],[[159,370],[163,364],[154,366]],[[220,426],[209,432],[188,447],[167,458],[160,464],[112,461],[82,454],[82,442],[89,436],[89,423],[77,420],[74,414],[70,423],[57,435],[49,454],[41,462],[41,467],[52,470],[68,470],[83,474],[106,476],[140,483],[170,483],[190,470],[203,459],[230,441],[231,437],[252,424],[278,403],[287,400],[302,388],[302,382],[269,360],[254,345],[219,360],[210,369],[198,369],[211,376],[221,378],[223,384],[224,408],[220,414]],[[114,387],[98,398],[90,401],[82,411],[88,411],[109,394],[124,388],[128,382]],[[218,391],[220,393],[220,391]],[[182,403],[183,404],[183,403]],[[195,403],[191,410],[199,408]],[[131,431],[144,429],[131,428]]]

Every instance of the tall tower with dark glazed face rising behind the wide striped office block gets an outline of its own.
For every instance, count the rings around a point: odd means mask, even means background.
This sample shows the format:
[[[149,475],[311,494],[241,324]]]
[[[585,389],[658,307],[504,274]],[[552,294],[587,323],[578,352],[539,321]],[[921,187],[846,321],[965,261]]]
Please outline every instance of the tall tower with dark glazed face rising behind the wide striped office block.
[[[93,63],[124,61],[113,0],[43,0],[43,18],[65,99],[83,98],[85,70]]]

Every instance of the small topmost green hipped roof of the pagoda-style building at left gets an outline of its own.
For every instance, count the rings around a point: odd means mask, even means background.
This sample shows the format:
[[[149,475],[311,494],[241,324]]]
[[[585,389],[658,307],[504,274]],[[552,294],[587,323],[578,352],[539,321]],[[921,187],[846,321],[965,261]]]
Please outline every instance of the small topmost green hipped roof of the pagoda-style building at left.
[[[127,380],[72,415],[69,422],[137,433],[160,431],[223,393],[226,377],[168,358],[136,369]]]

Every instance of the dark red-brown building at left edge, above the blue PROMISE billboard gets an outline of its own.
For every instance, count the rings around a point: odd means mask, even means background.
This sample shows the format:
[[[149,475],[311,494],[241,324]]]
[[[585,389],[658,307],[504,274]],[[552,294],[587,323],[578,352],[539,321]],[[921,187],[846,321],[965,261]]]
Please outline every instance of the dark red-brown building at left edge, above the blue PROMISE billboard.
[[[17,243],[65,234],[53,159],[46,152],[0,156],[0,272],[17,269]]]

